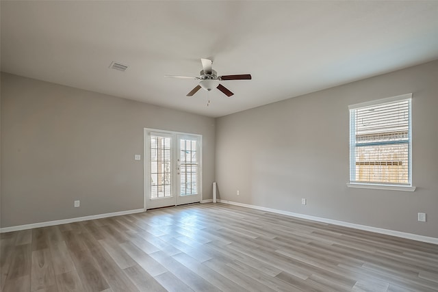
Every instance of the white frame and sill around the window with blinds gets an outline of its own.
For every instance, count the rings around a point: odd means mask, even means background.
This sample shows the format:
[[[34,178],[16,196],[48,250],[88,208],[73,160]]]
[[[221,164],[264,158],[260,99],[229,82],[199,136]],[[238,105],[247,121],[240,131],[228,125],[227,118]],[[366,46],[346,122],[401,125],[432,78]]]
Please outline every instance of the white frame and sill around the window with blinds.
[[[383,98],[378,99],[375,101],[367,101],[365,103],[357,103],[355,105],[349,105],[348,109],[350,111],[350,182],[347,183],[347,187],[353,187],[353,188],[361,188],[361,189],[389,189],[394,191],[415,191],[415,187],[412,185],[412,115],[411,115],[411,101],[409,102],[409,146],[408,146],[408,159],[409,159],[409,185],[392,185],[392,184],[385,184],[385,183],[357,183],[355,181],[352,181],[352,178],[355,178],[355,172],[356,172],[356,158],[355,158],[355,152],[356,152],[356,132],[355,132],[355,117],[354,115],[354,109],[359,109],[361,107],[370,107],[372,105],[380,105],[383,103],[391,103],[396,101],[403,101],[403,100],[411,100],[412,94],[402,94],[398,96],[393,96],[389,98]]]

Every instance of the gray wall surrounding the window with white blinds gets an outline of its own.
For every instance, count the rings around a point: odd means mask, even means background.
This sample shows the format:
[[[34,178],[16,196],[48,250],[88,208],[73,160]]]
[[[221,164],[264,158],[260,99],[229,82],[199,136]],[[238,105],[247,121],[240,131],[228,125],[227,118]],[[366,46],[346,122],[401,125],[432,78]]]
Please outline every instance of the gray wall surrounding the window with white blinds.
[[[218,118],[220,199],[438,237],[437,81],[435,61]],[[347,188],[348,105],[410,92],[416,191]]]

